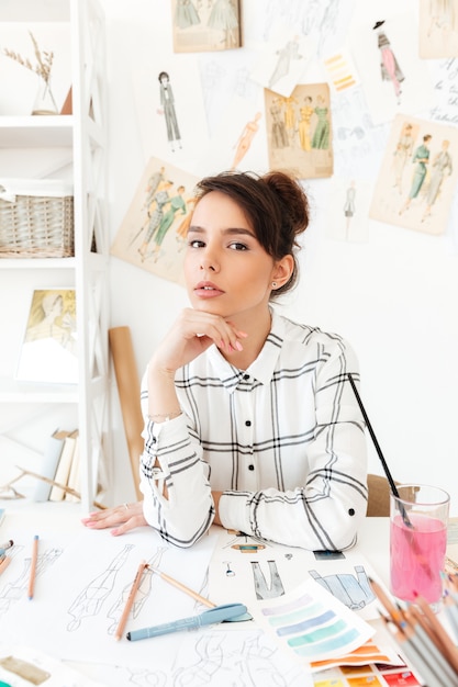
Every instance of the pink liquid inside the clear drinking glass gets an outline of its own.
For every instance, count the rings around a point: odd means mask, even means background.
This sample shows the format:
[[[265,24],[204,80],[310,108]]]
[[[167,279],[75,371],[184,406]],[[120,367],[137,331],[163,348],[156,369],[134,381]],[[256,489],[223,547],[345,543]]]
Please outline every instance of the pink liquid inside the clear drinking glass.
[[[409,519],[413,528],[400,515],[390,525],[391,592],[404,601],[414,601],[416,593],[435,604],[442,596],[446,526],[435,518],[409,515]]]

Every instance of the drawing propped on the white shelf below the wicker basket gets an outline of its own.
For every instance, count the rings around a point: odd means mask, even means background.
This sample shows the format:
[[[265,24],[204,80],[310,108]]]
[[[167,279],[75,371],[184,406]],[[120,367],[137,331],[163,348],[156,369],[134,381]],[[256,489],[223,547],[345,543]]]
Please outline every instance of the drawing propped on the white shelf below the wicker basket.
[[[76,330],[75,289],[36,289],[32,295],[16,379],[76,384]]]

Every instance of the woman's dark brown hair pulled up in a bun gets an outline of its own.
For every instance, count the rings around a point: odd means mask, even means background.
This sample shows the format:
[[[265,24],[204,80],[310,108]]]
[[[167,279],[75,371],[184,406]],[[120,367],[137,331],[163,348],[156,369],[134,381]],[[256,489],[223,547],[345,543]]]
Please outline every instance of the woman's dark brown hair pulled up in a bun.
[[[288,255],[293,257],[291,278],[272,291],[272,297],[291,291],[299,278],[297,237],[305,232],[310,216],[309,199],[299,181],[280,171],[264,176],[226,171],[198,182],[198,202],[211,191],[225,193],[237,203],[259,244],[275,260]]]

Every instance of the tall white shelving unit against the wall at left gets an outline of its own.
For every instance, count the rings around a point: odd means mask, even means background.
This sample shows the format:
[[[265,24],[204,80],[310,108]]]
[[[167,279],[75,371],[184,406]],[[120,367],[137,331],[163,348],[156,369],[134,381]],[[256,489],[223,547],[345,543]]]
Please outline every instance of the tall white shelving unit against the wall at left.
[[[11,362],[0,378],[0,414],[1,407],[5,407],[2,404],[43,406],[45,412],[67,404],[75,406],[82,458],[81,504],[88,509],[96,498],[99,469],[109,443],[104,16],[97,0],[2,0],[2,22],[21,22],[26,29],[32,22],[68,22],[70,27],[72,114],[1,116],[0,112],[0,177],[8,177],[4,160],[11,159],[14,151],[26,159],[26,151],[46,157],[53,149],[68,149],[74,187],[75,257],[0,258],[0,293],[14,297],[15,286],[23,281],[16,279],[19,272],[38,284],[37,288],[44,281],[47,288],[75,288],[78,383],[15,382]],[[26,169],[21,176],[30,177]],[[7,307],[5,312],[2,337],[12,337],[18,345],[23,334],[18,331],[18,326],[21,327],[26,313],[21,313],[19,318],[15,311],[12,313]]]

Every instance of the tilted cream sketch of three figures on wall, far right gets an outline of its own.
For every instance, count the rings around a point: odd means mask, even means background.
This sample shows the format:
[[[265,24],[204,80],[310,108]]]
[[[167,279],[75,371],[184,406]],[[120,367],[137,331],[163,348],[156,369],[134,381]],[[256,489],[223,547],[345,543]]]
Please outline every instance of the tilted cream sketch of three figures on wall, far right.
[[[443,234],[458,173],[458,129],[398,115],[382,160],[370,216]]]

